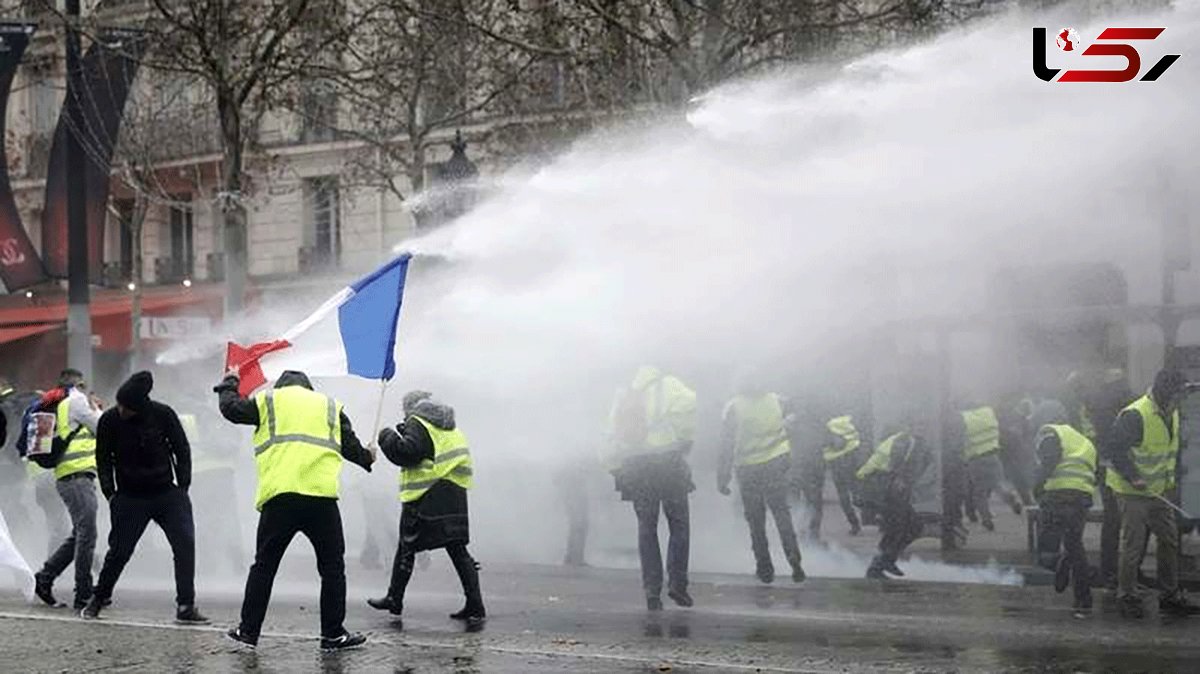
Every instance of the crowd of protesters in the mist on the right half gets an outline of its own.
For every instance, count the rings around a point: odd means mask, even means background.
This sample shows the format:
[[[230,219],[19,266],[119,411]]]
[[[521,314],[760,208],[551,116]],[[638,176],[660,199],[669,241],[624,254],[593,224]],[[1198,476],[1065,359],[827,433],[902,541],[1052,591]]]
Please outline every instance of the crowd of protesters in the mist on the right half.
[[[1123,616],[1145,615],[1139,568],[1151,534],[1158,544],[1159,610],[1200,612],[1178,586],[1180,403],[1188,391],[1183,374],[1163,369],[1144,396],[1134,396],[1122,371],[1075,373],[1057,395],[1026,395],[1003,405],[960,401],[944,419],[910,413],[882,426],[871,446],[853,414],[821,414],[769,391],[762,379],[743,375],[724,408],[716,489],[731,494],[737,477],[755,573],[775,579],[767,538],[767,513],[775,522],[792,579],[805,579],[799,540],[820,537],[826,476],[833,476],[851,535],[863,523],[878,525],[878,554],[868,578],[901,577],[898,561],[922,535],[942,536],[943,549],[962,544],[962,519],[995,530],[990,507],[998,493],[1021,514],[1036,506],[1043,562],[1055,585],[1074,585],[1074,610],[1092,610],[1092,588],[1117,592]],[[683,380],[642,367],[618,391],[610,416],[605,464],[637,517],[638,553],[647,608],[662,607],[664,565],[660,512],[667,519],[667,596],[691,606],[688,594],[689,494],[695,489],[689,453],[695,441],[696,392]],[[941,446],[929,423],[940,423]],[[941,467],[941,473],[931,470]],[[918,512],[924,483],[941,493],[940,508]],[[794,530],[790,499],[809,512],[804,536]],[[1103,503],[1099,567],[1084,549],[1082,534],[1093,499]],[[578,508],[575,508],[578,510]],[[931,512],[937,510],[937,512]],[[862,514],[860,514],[862,513]],[[568,561],[582,559],[572,516]],[[1145,579],[1142,579],[1145,582]]]

